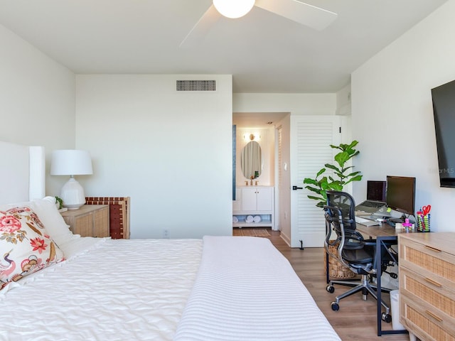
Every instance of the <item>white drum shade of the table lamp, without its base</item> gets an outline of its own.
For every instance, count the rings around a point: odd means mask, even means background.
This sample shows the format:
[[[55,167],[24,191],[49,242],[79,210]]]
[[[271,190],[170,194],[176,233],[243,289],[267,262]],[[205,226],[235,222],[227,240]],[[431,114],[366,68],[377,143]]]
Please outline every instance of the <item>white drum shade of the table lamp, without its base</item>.
[[[62,149],[53,151],[50,175],[87,175],[93,174],[92,159],[88,151]]]

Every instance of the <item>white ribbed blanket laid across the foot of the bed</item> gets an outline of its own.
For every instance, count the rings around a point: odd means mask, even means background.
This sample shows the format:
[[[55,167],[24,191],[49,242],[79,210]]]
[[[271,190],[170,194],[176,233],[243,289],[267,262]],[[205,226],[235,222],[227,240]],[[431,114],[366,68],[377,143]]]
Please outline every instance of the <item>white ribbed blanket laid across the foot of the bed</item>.
[[[268,239],[204,237],[176,341],[341,340]]]

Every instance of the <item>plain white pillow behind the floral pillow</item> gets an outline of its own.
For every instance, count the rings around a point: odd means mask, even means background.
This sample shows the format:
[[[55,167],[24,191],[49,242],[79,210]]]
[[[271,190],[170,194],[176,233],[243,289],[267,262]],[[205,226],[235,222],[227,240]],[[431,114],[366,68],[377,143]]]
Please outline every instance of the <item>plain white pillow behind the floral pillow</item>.
[[[78,234],[73,234],[65,223],[65,220],[63,220],[62,215],[60,215],[60,212],[58,212],[57,206],[55,205],[55,197],[44,197],[43,199],[27,202],[0,205],[0,211],[23,206],[30,207],[36,215],[38,215],[50,237],[57,245],[64,244],[71,239],[80,237]]]

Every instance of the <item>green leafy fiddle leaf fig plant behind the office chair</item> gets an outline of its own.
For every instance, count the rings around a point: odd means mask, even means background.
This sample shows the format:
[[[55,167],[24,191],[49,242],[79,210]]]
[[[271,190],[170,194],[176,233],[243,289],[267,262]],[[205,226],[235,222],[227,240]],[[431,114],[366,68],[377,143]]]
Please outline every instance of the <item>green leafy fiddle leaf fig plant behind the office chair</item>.
[[[304,178],[304,183],[307,185],[305,186],[306,189],[311,190],[311,192],[315,193],[314,195],[308,195],[308,197],[312,200],[317,200],[316,203],[317,207],[323,207],[326,205],[327,202],[327,195],[326,190],[343,190],[343,187],[352,181],[360,181],[362,180],[362,175],[360,175],[359,171],[353,171],[354,166],[346,166],[346,163],[353,158],[354,156],[358,155],[360,151],[355,150],[355,146],[357,146],[358,141],[352,141],[350,144],[340,144],[338,146],[334,146],[331,144],[331,148],[339,149],[340,152],[334,156],[334,161],[336,163],[326,163],[321,170],[316,173],[315,178]],[[331,175],[324,175],[326,173],[327,168],[333,171],[333,176]],[[336,177],[335,177],[336,175]]]

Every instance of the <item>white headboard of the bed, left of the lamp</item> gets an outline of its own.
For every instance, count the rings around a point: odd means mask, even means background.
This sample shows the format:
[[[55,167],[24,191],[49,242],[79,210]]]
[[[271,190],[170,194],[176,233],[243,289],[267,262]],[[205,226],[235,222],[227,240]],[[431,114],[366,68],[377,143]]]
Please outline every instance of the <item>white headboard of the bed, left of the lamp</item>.
[[[0,141],[0,204],[44,196],[44,147]]]

